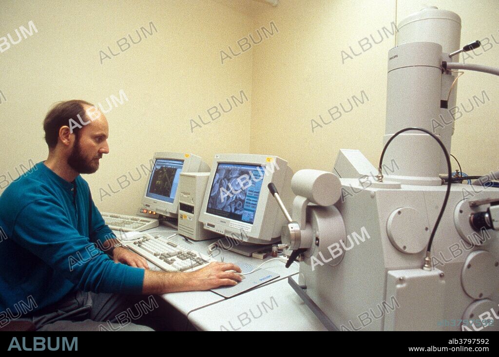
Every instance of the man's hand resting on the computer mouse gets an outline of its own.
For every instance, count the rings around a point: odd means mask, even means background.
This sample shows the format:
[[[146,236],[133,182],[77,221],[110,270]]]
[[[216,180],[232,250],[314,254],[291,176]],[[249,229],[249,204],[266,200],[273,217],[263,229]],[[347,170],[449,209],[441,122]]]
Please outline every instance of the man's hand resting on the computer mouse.
[[[231,270],[241,273],[241,268],[235,264],[212,262],[202,269],[186,274],[189,274],[192,290],[210,290],[225,285],[238,285],[243,278]]]

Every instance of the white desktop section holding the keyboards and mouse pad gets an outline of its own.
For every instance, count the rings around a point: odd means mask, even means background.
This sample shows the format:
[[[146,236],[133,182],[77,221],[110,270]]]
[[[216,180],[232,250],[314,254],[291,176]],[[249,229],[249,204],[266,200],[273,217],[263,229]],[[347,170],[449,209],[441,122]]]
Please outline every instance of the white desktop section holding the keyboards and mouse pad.
[[[164,231],[164,232],[161,232]],[[172,231],[172,232],[167,232],[167,231]],[[160,225],[158,227],[148,229],[146,231],[143,231],[142,233],[155,233],[155,232],[161,232],[162,235],[165,236],[170,236],[171,234],[174,234],[176,232],[175,228],[167,227]],[[118,232],[115,231],[115,234],[118,236]],[[193,244],[187,243],[182,236],[176,235],[171,238],[172,240],[179,242],[187,247],[189,247],[192,250],[197,250],[200,253],[203,253],[205,255],[208,255],[207,253],[207,247],[216,242],[218,238],[215,239],[210,239],[210,240],[204,240],[204,241],[193,241],[191,242]],[[252,258],[252,257],[247,257],[238,253],[234,253],[231,251],[223,251],[221,254],[215,257],[218,261],[221,261],[221,258],[224,258],[224,262],[228,263],[236,263],[236,262],[242,262],[246,264],[250,264],[254,267],[257,267],[260,265],[262,262],[265,260],[269,260],[271,258],[265,258],[264,260],[257,259],[257,258]],[[161,270],[158,267],[156,267],[154,264],[151,262],[149,263],[149,267],[151,270]],[[298,273],[298,267],[297,264],[292,264],[289,268],[286,268],[284,266],[285,262],[280,261],[280,260],[273,260],[267,264],[264,264],[262,266],[263,269],[270,270],[274,273],[279,274],[279,278],[272,280],[266,284],[260,285],[256,287],[255,289],[252,289],[240,296],[246,296],[250,292],[254,292],[256,290],[259,290],[265,286],[271,286],[279,281],[284,281],[285,284],[287,284],[287,277],[294,275]],[[207,306],[217,304],[220,302],[223,302],[225,300],[232,301],[234,298],[231,299],[225,299],[224,297],[215,294],[211,291],[190,291],[190,292],[180,292],[180,293],[168,293],[168,294],[163,294],[162,298],[167,301],[170,305],[172,305],[176,310],[178,310],[182,315],[188,316],[190,313],[193,311],[196,311],[198,309],[205,308]],[[298,298],[299,299],[299,298]]]

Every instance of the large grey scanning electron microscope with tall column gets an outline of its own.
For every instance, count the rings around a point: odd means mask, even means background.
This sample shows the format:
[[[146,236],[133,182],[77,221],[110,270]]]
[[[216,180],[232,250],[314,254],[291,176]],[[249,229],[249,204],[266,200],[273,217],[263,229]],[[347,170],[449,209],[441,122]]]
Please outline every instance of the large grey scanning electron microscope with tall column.
[[[289,284],[330,330],[499,330],[499,189],[462,183],[449,158],[459,72],[499,69],[459,63],[480,46],[460,38],[437,7],[399,23],[378,167],[341,150],[332,172],[298,171],[292,216],[269,184],[299,261]]]

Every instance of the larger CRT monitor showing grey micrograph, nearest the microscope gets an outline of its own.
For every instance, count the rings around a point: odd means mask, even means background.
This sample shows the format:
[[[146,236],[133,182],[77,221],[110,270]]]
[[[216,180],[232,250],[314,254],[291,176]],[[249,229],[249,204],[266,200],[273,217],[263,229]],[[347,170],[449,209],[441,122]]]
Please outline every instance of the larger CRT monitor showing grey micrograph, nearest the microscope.
[[[250,244],[279,240],[285,218],[267,188],[273,182],[287,208],[292,171],[276,156],[215,155],[199,220],[204,228]]]

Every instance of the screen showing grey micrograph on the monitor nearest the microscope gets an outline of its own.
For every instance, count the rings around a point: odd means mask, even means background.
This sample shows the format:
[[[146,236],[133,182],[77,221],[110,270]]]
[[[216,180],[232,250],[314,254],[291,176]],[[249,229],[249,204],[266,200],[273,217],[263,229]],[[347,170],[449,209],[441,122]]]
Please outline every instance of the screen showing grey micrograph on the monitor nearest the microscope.
[[[263,175],[260,165],[219,163],[206,212],[253,224]]]

